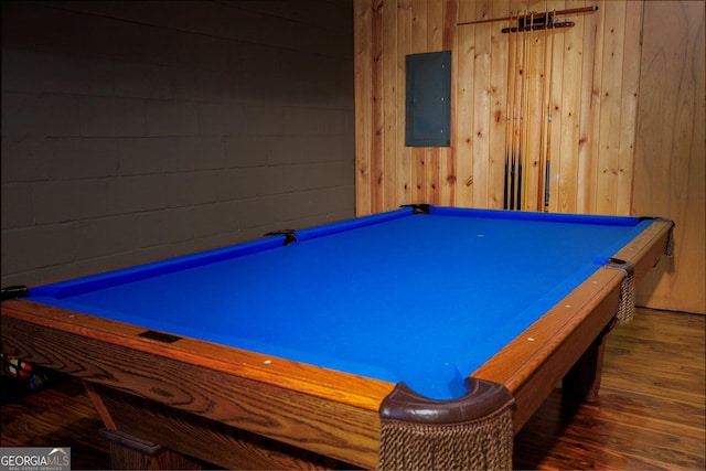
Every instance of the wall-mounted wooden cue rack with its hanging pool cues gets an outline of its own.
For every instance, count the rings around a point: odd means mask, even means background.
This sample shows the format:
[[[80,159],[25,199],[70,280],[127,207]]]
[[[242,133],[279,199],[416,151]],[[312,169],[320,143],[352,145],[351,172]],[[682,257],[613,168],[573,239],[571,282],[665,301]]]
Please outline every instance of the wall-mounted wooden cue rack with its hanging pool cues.
[[[598,7],[575,8],[545,12],[515,12],[506,18],[483,19],[457,23],[482,24],[506,22],[501,30],[507,40],[507,83],[505,105],[505,172],[503,208],[548,211],[552,163],[552,86],[554,69],[554,31],[574,26],[567,15],[592,13]],[[565,19],[559,19],[560,17]],[[535,36],[535,32],[538,32]],[[514,33],[514,34],[513,34]],[[542,68],[533,63],[534,44],[543,43],[535,51],[541,56]],[[535,58],[536,61],[536,58]],[[541,84],[531,86],[533,69]],[[537,105],[541,109],[537,109]],[[533,119],[539,126],[533,127]],[[528,165],[537,169],[536,206],[528,195]]]

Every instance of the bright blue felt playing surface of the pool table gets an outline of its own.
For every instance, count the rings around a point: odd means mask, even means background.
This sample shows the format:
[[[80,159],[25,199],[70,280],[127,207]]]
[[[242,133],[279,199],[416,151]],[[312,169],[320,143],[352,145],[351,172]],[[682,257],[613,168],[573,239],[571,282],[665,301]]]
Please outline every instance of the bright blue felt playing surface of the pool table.
[[[270,237],[31,295],[458,397],[464,377],[650,224],[509,214],[520,213],[399,210],[302,231],[289,246]]]

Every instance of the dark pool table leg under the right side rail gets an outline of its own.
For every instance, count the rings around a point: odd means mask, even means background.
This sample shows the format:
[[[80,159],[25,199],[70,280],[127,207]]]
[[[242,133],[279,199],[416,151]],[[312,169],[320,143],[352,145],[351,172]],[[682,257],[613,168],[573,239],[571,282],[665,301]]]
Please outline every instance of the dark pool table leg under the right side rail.
[[[601,331],[576,364],[564,376],[561,387],[564,397],[578,402],[592,403],[600,389],[600,379],[606,351],[606,336],[616,325],[613,318]]]

